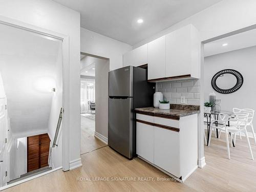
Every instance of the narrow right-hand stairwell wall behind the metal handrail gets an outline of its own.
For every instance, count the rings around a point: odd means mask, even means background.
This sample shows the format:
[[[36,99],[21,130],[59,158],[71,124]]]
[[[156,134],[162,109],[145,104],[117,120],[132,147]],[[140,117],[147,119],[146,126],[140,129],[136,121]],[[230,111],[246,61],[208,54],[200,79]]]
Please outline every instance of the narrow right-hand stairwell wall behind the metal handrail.
[[[55,65],[55,92],[52,96],[51,111],[48,121],[48,134],[51,139],[51,146],[57,129],[60,109],[62,108],[62,49],[59,45],[58,57]],[[60,125],[59,134],[56,144],[51,150],[51,163],[53,168],[60,167],[62,164],[62,123]]]

